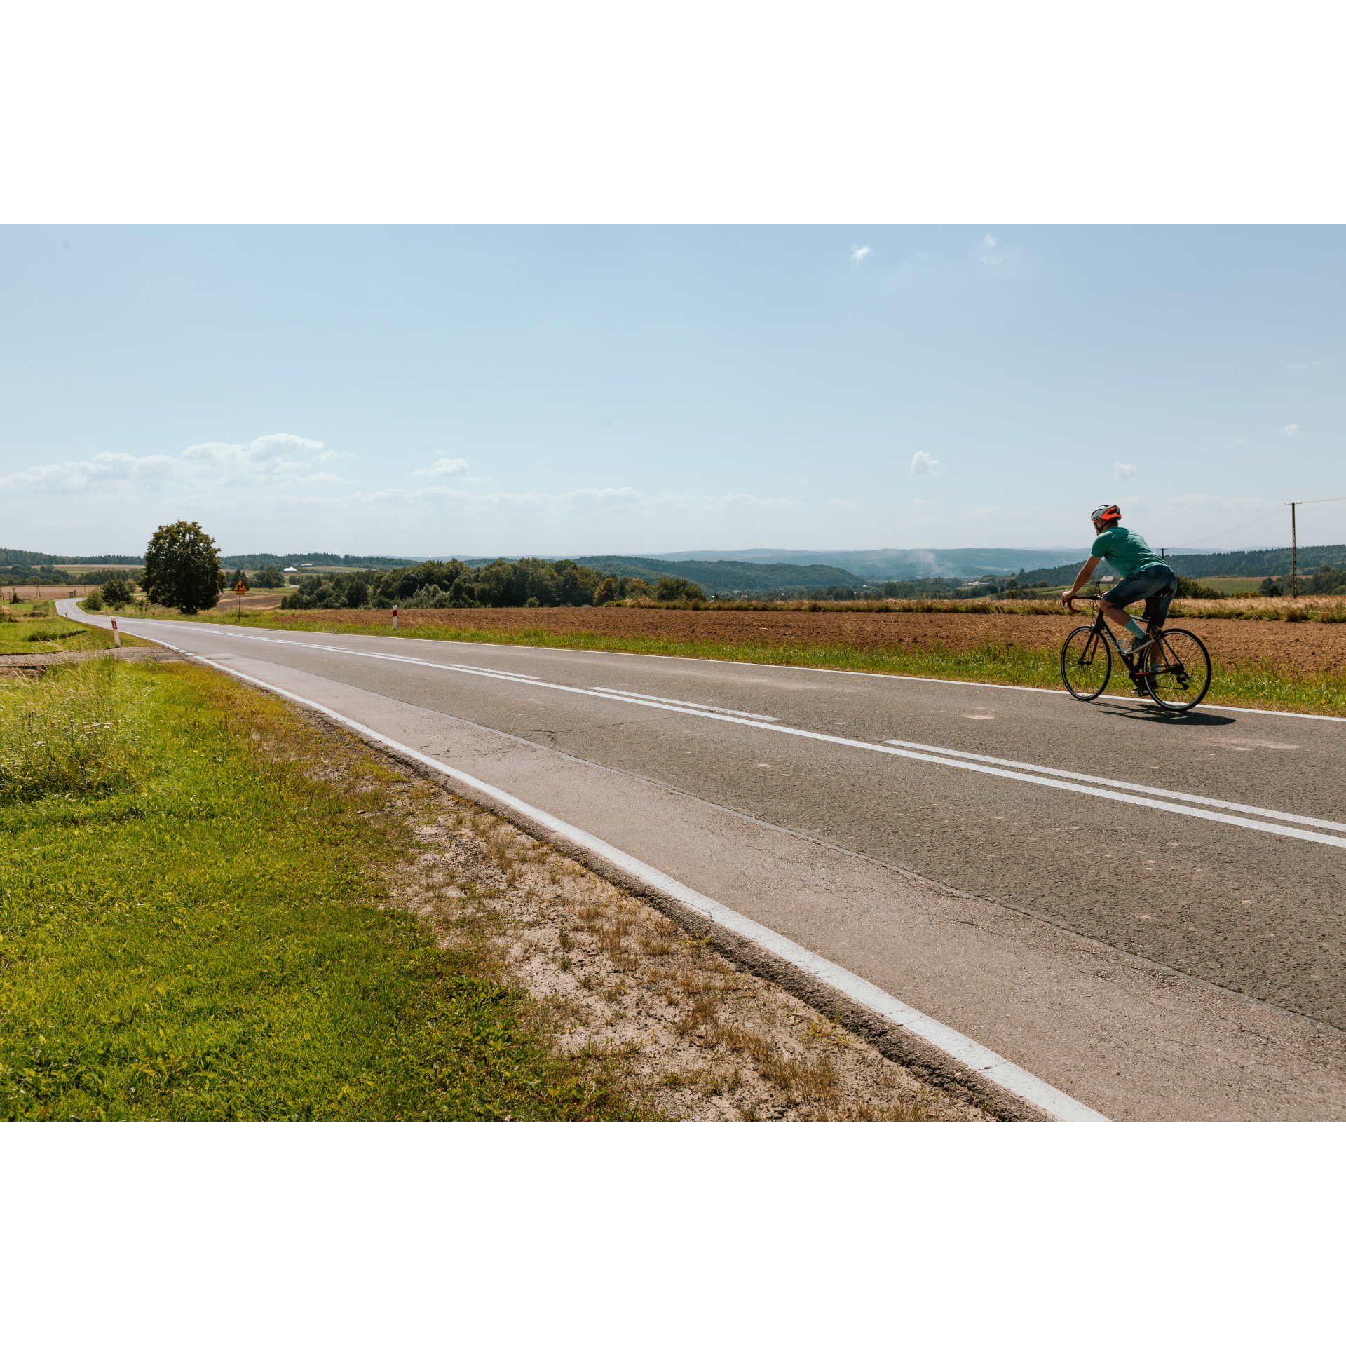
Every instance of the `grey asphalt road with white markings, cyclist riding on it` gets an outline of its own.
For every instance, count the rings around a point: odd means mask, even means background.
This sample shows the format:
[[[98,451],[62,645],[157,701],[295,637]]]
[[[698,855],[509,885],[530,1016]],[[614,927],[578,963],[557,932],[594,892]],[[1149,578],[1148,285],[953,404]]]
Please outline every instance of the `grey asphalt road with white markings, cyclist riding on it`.
[[[120,625],[416,738],[1109,1116],[1346,1116],[1346,721]]]

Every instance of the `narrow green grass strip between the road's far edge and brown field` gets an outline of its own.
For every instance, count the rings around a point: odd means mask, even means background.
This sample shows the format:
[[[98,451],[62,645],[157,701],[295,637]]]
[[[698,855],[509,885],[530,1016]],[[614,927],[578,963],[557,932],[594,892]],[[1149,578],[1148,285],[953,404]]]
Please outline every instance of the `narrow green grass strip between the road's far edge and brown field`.
[[[198,621],[202,618],[198,618]],[[236,618],[211,615],[211,622],[237,625]],[[323,622],[308,615],[300,621],[276,621],[269,614],[244,616],[244,626],[271,630],[327,631],[353,635],[384,635],[390,639],[463,641],[479,645],[530,645],[565,650],[618,650],[630,654],[665,654],[695,660],[727,660],[742,664],[779,664],[794,668],[845,669],[905,677],[948,678],[966,682],[999,682],[1007,686],[1061,689],[1059,646],[1024,649],[1020,645],[983,642],[966,650],[940,645],[910,650],[887,647],[857,650],[843,642],[812,645],[756,645],[731,641],[674,641],[654,637],[612,637],[594,631],[556,633],[541,627],[518,631],[478,631],[470,627],[416,626],[393,631],[388,616],[370,622]],[[1070,626],[1061,623],[1065,639]],[[1224,705],[1254,705],[1261,709],[1300,711],[1346,716],[1346,673],[1295,673],[1269,661],[1226,666],[1211,656],[1211,682],[1206,700]],[[1125,696],[1131,682],[1114,665],[1108,690]]]

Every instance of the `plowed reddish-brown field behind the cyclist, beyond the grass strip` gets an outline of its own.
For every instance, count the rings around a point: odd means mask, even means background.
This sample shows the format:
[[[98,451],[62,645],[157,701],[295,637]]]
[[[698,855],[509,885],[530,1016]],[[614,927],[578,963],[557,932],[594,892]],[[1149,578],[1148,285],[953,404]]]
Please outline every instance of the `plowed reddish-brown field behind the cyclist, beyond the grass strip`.
[[[277,625],[392,626],[392,612],[269,612]],[[1015,643],[1054,649],[1084,616],[999,612],[844,612],[824,610],[743,612],[656,607],[431,608],[401,612],[398,629],[458,627],[471,631],[591,631],[614,639],[662,639],[725,645],[848,645],[856,650],[946,650]],[[1197,633],[1226,666],[1269,660],[1302,673],[1346,669],[1346,623],[1210,621],[1174,616],[1171,626]]]

